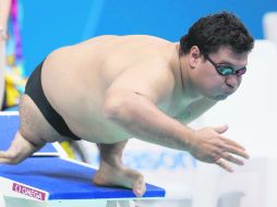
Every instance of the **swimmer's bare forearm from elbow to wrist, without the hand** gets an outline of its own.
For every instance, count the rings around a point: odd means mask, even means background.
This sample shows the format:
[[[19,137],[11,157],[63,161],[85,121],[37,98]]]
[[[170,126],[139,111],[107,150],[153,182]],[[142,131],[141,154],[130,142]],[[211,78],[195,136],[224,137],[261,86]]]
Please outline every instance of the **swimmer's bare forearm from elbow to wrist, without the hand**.
[[[194,131],[161,112],[150,98],[138,92],[107,94],[106,117],[133,136],[174,149],[188,150]]]

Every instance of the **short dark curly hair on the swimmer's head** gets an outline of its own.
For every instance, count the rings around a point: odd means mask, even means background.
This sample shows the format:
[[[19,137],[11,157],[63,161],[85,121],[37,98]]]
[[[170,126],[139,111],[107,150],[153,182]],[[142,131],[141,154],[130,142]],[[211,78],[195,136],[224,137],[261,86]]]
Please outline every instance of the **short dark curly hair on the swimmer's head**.
[[[221,46],[231,47],[236,53],[249,52],[254,47],[253,37],[233,14],[220,12],[201,17],[180,39],[181,52],[188,53],[197,46],[205,53],[217,52]]]

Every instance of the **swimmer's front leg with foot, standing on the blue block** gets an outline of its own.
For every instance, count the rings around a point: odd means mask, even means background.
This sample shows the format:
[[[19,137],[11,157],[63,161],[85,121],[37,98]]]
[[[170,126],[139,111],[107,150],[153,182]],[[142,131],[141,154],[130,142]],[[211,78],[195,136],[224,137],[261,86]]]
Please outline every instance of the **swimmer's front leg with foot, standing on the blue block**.
[[[145,192],[143,175],[122,165],[122,151],[127,142],[99,144],[100,167],[94,176],[94,182],[98,185],[132,188],[136,196],[142,196]]]

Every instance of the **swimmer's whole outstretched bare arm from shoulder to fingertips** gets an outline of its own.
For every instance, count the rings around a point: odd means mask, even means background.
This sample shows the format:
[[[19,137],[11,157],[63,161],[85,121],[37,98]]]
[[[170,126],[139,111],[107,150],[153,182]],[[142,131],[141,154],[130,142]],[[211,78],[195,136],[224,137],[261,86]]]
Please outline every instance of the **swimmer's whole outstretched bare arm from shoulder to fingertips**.
[[[246,158],[245,149],[220,135],[226,127],[194,131],[157,108],[157,101],[173,88],[170,73],[162,71],[154,68],[123,72],[106,93],[106,118],[140,139],[189,150],[195,158],[218,163],[226,170],[231,171],[231,168],[219,158],[242,165],[231,154]]]

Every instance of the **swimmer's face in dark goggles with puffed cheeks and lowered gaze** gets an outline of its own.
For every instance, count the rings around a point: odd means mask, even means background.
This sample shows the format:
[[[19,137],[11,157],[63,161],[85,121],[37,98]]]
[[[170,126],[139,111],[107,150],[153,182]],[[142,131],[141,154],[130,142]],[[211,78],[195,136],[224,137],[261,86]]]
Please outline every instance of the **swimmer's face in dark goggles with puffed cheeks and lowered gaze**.
[[[214,100],[226,99],[234,93],[241,84],[242,75],[240,70],[248,63],[248,53],[234,53],[229,47],[221,47],[215,53],[206,54],[209,60],[202,56],[198,68],[198,90],[207,98]],[[213,62],[212,62],[213,61]],[[221,75],[216,70],[216,65],[226,65],[238,74]]]

